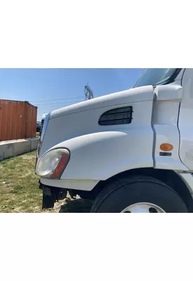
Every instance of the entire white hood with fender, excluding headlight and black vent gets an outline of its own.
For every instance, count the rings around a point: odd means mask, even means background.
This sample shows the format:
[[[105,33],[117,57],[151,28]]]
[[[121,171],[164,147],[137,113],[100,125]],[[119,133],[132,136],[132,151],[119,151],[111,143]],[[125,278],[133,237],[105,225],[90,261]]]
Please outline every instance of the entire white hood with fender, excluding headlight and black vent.
[[[74,105],[76,111],[79,111],[74,114],[68,114],[68,107],[65,107],[64,112],[60,110],[60,117],[49,120],[40,156],[53,148],[69,149],[70,160],[62,179],[100,181],[128,169],[152,167],[153,98],[153,87],[145,86],[95,98],[91,103],[85,102],[86,105],[80,103],[79,106],[84,107],[81,112],[78,105]],[[98,124],[100,115],[112,109],[113,103],[113,108],[133,106],[131,124]],[[71,113],[72,107],[69,107]],[[51,117],[55,115],[55,112],[51,113]]]

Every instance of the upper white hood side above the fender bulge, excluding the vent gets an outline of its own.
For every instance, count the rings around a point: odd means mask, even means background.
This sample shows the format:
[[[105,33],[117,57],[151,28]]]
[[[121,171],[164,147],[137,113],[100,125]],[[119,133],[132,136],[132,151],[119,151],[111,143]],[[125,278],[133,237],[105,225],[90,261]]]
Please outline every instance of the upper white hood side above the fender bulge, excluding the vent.
[[[46,133],[39,155],[41,156],[55,145],[79,136],[102,131],[132,130],[135,126],[151,127],[153,100],[153,87],[143,86],[55,110],[51,112],[45,128]],[[107,110],[130,105],[133,106],[133,119],[128,126],[100,126],[98,123],[100,116]]]

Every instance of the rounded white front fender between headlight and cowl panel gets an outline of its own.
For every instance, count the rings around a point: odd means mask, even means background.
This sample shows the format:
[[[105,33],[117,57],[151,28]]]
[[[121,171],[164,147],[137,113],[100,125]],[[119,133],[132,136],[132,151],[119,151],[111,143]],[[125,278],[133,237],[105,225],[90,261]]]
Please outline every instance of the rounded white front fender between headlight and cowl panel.
[[[122,171],[153,166],[151,126],[127,132],[104,131],[71,138],[53,148],[67,148],[70,159],[61,179],[105,181]],[[52,149],[53,149],[52,148]]]

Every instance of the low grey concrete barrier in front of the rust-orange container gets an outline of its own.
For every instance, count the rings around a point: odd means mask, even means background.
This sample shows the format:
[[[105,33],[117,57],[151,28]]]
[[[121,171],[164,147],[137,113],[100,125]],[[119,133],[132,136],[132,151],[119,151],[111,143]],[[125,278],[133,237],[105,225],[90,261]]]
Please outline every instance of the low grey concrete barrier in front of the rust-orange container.
[[[25,152],[36,150],[39,138],[28,138],[26,140],[1,141],[0,142],[0,161],[8,157],[21,155]]]

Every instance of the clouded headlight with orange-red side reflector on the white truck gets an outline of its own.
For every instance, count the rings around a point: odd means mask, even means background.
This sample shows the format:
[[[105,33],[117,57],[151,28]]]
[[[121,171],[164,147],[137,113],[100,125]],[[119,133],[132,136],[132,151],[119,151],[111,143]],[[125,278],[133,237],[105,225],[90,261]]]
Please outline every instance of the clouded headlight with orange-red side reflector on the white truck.
[[[36,174],[45,178],[58,178],[69,162],[69,151],[58,148],[46,152],[36,164]]]

